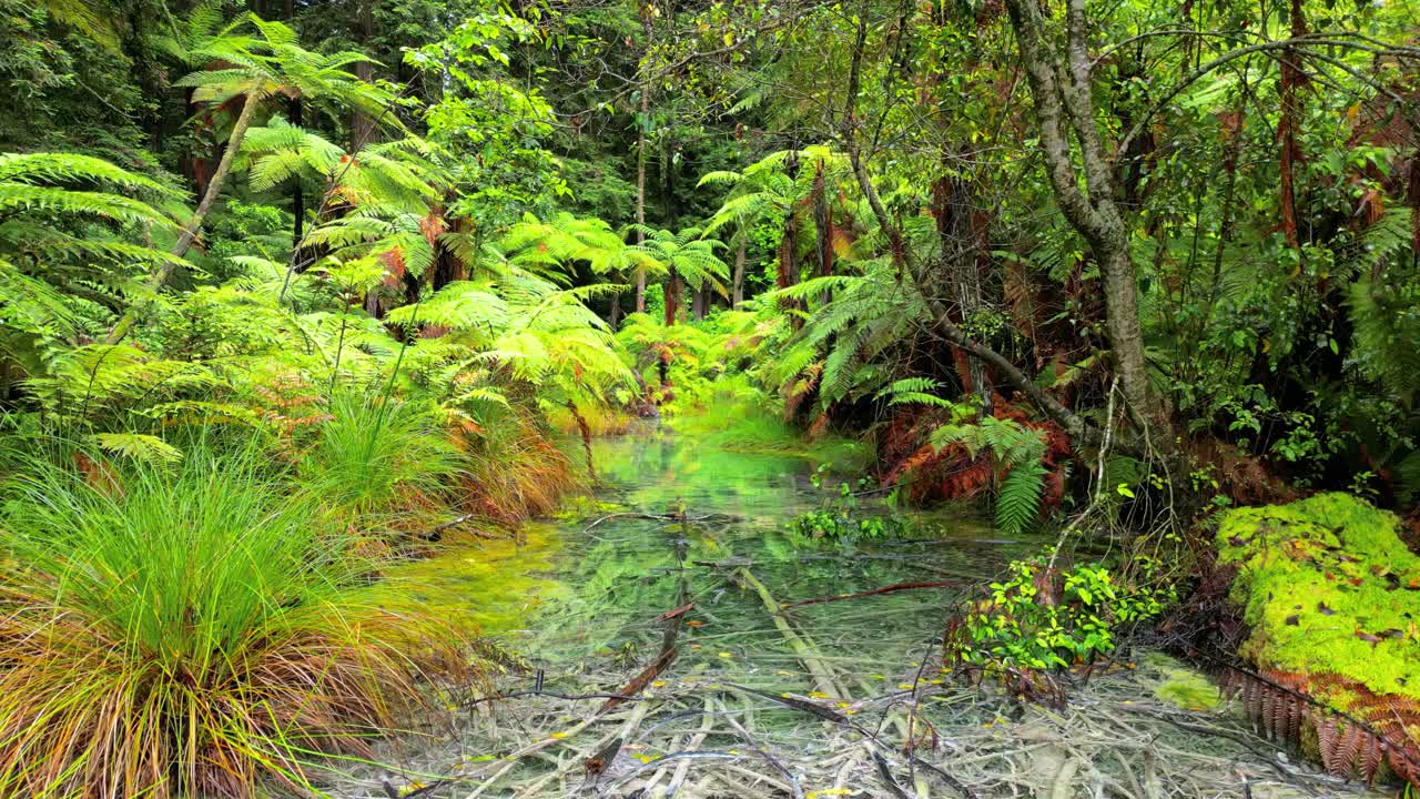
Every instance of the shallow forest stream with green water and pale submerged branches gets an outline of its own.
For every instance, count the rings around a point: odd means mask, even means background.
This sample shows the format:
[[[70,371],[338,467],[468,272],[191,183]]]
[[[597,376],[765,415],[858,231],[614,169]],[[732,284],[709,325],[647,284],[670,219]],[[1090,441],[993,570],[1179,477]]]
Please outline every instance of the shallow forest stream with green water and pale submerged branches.
[[[491,692],[443,697],[452,724],[392,738],[334,795],[1370,795],[1294,763],[1159,653],[1075,674],[1058,708],[951,680],[949,606],[1039,535],[949,506],[910,512],[907,535],[815,542],[788,529],[838,493],[811,459],[666,428],[594,439],[592,456],[598,488],[561,518],[389,574],[518,663]]]

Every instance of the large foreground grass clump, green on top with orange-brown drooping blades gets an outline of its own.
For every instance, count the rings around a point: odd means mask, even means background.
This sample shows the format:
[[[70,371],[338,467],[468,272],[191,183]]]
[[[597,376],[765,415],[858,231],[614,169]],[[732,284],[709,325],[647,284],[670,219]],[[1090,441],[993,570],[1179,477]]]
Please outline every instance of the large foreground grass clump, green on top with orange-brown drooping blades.
[[[88,458],[80,462],[92,463]],[[250,451],[33,462],[0,508],[0,795],[251,796],[307,786],[463,677],[442,623],[376,607],[346,536]]]

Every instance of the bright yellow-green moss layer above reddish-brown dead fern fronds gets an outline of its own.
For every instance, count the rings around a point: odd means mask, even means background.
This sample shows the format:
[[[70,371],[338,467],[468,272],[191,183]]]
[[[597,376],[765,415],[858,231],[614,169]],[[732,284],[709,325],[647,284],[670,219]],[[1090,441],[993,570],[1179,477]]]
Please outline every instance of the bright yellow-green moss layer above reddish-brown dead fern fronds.
[[[1399,523],[1345,493],[1224,513],[1220,562],[1240,567],[1233,599],[1252,630],[1242,654],[1420,699],[1420,557]]]

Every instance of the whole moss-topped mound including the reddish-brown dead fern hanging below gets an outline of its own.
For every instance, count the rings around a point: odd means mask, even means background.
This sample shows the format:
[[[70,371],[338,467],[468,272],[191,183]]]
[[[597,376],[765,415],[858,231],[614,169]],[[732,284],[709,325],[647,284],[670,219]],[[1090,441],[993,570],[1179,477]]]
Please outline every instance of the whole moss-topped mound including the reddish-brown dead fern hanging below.
[[[1251,628],[1241,654],[1264,677],[1242,680],[1254,721],[1336,776],[1389,766],[1420,788],[1420,557],[1399,529],[1392,513],[1323,493],[1231,510],[1217,545],[1238,569],[1231,596]]]

